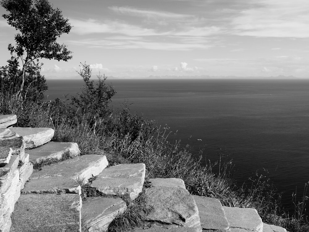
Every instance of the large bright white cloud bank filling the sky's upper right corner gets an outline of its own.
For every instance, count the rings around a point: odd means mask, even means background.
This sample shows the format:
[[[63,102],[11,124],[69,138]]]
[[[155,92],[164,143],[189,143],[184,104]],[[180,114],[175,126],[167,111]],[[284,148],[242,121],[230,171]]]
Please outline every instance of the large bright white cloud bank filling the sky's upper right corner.
[[[240,36],[309,37],[309,1],[248,0],[247,9],[231,20],[233,31]]]

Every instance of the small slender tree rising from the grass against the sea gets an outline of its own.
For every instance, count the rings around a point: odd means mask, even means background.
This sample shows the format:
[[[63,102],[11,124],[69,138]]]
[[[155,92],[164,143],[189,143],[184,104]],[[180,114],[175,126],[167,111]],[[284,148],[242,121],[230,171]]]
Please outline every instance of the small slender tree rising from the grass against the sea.
[[[82,92],[77,93],[78,97],[72,97],[72,103],[80,108],[84,114],[90,113],[92,122],[95,126],[98,120],[104,120],[112,114],[112,108],[109,107],[112,101],[112,96],[116,94],[115,88],[112,85],[107,85],[105,75],[97,75],[97,87],[94,86],[94,81],[91,80],[91,68],[86,63],[81,63],[81,70],[78,74],[83,78],[85,85],[82,87]]]

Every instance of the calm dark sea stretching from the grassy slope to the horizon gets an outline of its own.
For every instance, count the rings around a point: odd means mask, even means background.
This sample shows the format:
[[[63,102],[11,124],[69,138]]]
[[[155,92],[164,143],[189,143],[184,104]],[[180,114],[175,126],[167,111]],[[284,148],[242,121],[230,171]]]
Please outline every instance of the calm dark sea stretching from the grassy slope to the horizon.
[[[110,80],[132,111],[167,124],[170,140],[203,149],[203,162],[231,154],[238,183],[263,168],[287,206],[309,181],[309,80]],[[80,80],[48,80],[48,99],[74,95]],[[174,134],[177,131],[176,135]],[[198,141],[201,139],[202,141]]]

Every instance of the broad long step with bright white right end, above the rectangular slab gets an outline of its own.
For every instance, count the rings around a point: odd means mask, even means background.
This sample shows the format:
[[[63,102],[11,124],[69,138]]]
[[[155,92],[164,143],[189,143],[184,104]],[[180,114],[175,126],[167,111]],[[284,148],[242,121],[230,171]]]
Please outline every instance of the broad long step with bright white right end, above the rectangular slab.
[[[33,171],[22,193],[81,194],[80,184],[87,183],[89,178],[98,175],[107,166],[105,155],[82,155],[43,166],[40,171]]]

